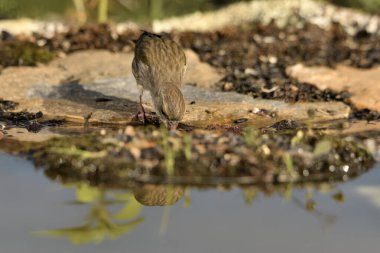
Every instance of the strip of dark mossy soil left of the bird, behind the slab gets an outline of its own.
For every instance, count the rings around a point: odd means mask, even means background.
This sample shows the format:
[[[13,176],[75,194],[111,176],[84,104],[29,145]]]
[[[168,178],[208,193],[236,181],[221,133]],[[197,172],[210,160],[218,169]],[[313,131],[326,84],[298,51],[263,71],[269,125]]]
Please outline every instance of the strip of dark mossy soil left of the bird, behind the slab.
[[[57,33],[52,38],[40,34],[13,36],[4,31],[0,37],[0,65],[35,66],[47,63],[56,56],[63,56],[84,49],[107,49],[110,51],[133,50],[133,39],[139,30],[127,30],[117,34],[113,26],[90,23],[74,26],[69,31]]]

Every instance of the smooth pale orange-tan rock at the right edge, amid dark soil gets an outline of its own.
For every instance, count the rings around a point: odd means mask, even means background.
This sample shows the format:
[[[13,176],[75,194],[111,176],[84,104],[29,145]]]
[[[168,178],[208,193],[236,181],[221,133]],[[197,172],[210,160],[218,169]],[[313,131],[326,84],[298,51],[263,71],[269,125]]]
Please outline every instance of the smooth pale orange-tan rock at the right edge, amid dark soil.
[[[289,67],[287,72],[299,81],[312,83],[322,90],[348,91],[357,108],[380,112],[380,67],[357,69],[338,65],[332,69],[297,64]]]

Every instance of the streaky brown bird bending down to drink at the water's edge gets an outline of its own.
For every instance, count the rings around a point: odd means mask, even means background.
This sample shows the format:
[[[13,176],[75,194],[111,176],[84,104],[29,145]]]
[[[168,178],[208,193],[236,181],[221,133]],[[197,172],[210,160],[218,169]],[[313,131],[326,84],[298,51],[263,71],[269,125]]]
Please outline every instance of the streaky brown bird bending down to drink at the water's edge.
[[[144,31],[136,41],[132,72],[139,90],[138,118],[146,122],[142,105],[144,90],[150,92],[154,109],[170,130],[175,130],[185,113],[180,90],[186,71],[182,47],[168,36]]]

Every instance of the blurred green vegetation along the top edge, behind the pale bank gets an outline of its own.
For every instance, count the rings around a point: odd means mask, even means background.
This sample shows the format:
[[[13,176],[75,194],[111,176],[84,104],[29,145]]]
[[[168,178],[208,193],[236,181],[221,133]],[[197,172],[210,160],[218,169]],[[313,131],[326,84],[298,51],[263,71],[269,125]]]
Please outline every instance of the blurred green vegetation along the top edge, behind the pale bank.
[[[240,0],[242,1],[242,0]],[[245,0],[250,1],[250,0]],[[260,0],[258,0],[260,1]],[[265,0],[261,0],[265,1]],[[270,1],[270,0],[267,0]],[[285,0],[283,0],[285,1]],[[302,1],[302,0],[299,0]],[[324,0],[380,14],[380,0]],[[0,19],[36,18],[66,21],[135,21],[179,16],[221,8],[238,0],[0,0]]]

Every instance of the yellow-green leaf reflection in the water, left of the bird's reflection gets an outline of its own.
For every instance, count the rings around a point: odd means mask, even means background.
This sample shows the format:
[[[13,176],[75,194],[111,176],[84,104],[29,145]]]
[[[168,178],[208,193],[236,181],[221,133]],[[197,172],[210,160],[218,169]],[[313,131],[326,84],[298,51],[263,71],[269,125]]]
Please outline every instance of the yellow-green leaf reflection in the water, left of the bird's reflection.
[[[105,239],[117,239],[144,221],[140,217],[142,206],[131,193],[114,193],[113,199],[109,201],[106,191],[101,188],[90,187],[85,183],[75,187],[76,203],[91,205],[87,221],[80,226],[39,231],[37,234],[67,237],[74,244],[100,243]],[[111,213],[109,207],[115,204],[123,206]]]

